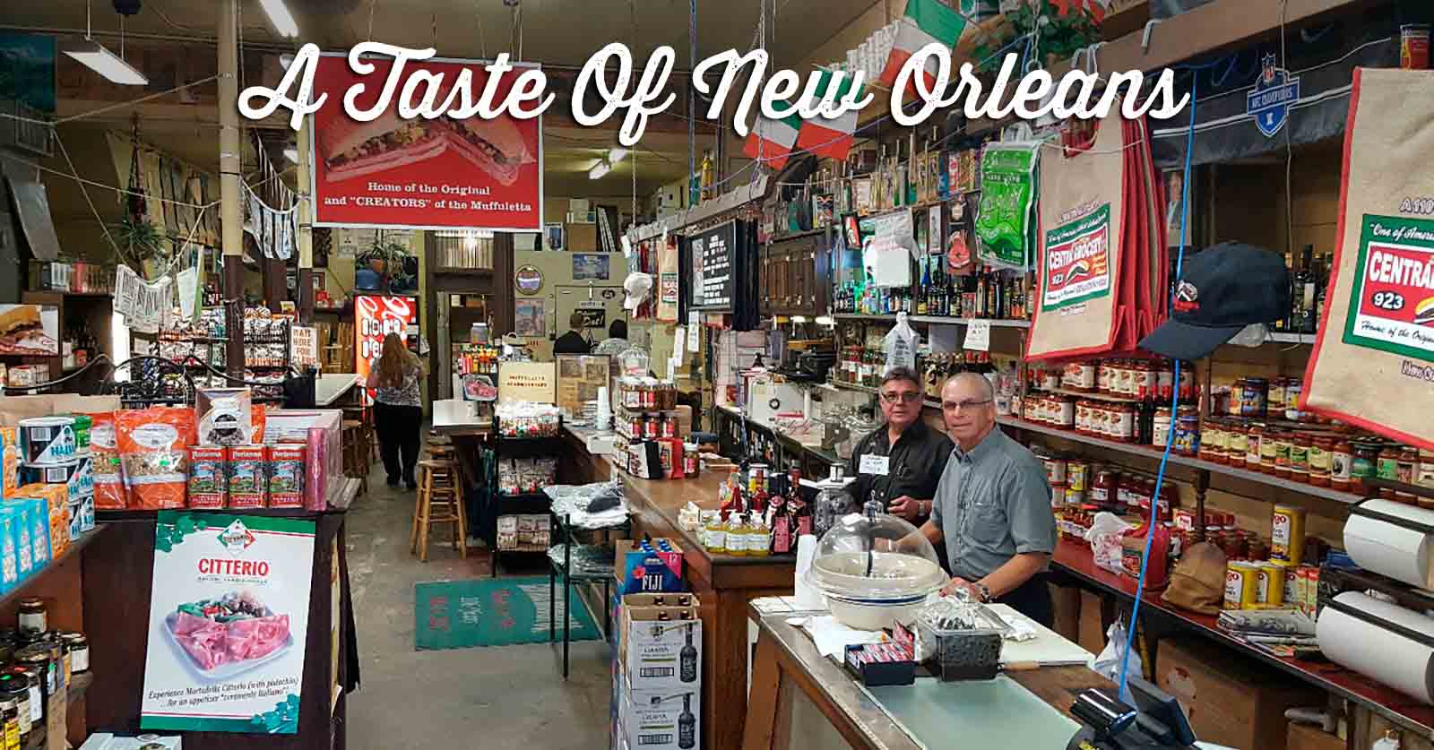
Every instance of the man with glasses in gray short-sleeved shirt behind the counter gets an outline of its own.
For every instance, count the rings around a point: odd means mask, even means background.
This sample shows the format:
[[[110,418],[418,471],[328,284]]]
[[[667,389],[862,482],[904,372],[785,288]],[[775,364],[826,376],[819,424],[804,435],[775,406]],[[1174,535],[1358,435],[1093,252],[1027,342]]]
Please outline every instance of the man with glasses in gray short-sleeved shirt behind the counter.
[[[995,426],[991,381],[962,373],[941,389],[946,435],[956,443],[921,532],[946,542],[951,584],[975,601],[1008,604],[1050,627],[1050,591],[1037,574],[1055,551],[1055,515],[1045,467]]]

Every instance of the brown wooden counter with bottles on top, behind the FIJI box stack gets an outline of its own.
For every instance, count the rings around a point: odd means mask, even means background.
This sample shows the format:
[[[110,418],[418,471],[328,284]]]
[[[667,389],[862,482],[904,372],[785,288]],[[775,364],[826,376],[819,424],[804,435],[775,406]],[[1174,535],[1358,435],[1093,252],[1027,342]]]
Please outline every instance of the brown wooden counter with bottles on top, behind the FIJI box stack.
[[[558,465],[561,483],[601,482],[621,476],[634,533],[668,536],[683,548],[688,588],[701,601],[703,617],[703,747],[741,747],[747,713],[747,602],[792,594],[794,555],[749,558],[713,555],[697,533],[677,525],[688,502],[716,509],[717,488],[726,479],[703,473],[697,479],[647,480],[612,467],[607,456],[588,453],[582,437],[565,429]]]

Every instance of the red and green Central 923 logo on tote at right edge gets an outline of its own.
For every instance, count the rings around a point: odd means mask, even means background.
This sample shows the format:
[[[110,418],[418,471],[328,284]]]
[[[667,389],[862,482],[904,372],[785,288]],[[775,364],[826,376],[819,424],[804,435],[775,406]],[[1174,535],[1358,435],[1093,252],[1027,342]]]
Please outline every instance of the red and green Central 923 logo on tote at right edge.
[[[1434,361],[1434,221],[1365,214],[1344,343]]]

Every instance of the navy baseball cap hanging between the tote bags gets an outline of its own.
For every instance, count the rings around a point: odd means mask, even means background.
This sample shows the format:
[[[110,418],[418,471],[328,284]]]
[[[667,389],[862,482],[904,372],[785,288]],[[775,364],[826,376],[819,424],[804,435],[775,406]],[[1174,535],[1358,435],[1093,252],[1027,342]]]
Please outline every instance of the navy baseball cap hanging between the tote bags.
[[[1289,314],[1285,258],[1242,242],[1220,242],[1184,260],[1170,320],[1140,348],[1177,360],[1199,360],[1252,323]]]

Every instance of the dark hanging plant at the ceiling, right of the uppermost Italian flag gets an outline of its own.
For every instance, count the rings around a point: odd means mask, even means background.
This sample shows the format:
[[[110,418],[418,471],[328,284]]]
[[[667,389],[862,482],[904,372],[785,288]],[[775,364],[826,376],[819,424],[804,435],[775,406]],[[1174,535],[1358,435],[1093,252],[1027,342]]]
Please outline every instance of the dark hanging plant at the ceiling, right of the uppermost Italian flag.
[[[1001,69],[1007,53],[1015,53],[1028,60],[1034,59],[1041,65],[1051,59],[1068,60],[1076,54],[1076,50],[1100,42],[1100,26],[1090,6],[1091,3],[1074,0],[1028,0],[1021,3],[1005,14],[1010,24],[1001,26],[997,32],[998,36],[988,37],[972,52],[977,70],[995,73]],[[1037,24],[1040,24],[1040,33],[1035,36],[1034,50],[1027,50],[1022,44],[1005,49],[1012,40],[1035,32]],[[1017,70],[1017,75],[1021,75],[1021,70]]]

